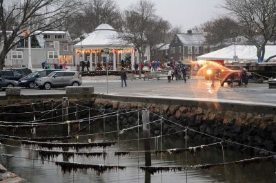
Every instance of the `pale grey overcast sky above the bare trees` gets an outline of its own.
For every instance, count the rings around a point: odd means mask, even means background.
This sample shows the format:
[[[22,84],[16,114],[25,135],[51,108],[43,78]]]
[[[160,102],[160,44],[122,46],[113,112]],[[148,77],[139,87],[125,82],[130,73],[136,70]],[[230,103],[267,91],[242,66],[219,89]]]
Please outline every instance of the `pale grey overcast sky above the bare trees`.
[[[121,10],[139,0],[115,0]],[[151,0],[155,3],[156,14],[173,26],[181,26],[184,31],[224,14],[218,8],[224,0]]]

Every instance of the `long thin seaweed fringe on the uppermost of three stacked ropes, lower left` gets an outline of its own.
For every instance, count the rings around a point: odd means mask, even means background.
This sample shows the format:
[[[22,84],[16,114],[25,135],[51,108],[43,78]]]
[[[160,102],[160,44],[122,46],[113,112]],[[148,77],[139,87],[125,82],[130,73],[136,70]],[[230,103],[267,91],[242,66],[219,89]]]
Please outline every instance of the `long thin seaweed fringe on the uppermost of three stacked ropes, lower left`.
[[[52,149],[54,147],[57,147],[57,148],[66,148],[67,147],[67,148],[73,148],[73,149],[103,147],[103,149],[105,149],[106,147],[116,144],[116,142],[51,143],[51,142],[37,142],[37,141],[28,141],[28,140],[22,140],[21,143],[28,145],[28,146],[32,145],[32,146],[48,148],[48,149]]]

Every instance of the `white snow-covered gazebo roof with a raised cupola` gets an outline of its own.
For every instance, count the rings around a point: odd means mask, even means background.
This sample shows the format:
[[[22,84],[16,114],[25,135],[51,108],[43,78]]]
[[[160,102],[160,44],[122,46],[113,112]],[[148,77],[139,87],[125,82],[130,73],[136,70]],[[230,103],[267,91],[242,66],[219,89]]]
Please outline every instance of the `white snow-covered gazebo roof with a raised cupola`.
[[[126,43],[119,38],[118,32],[110,25],[103,23],[99,25],[95,30],[83,39],[83,41],[74,45],[75,47],[88,48],[117,48],[117,47],[130,47],[132,45]]]

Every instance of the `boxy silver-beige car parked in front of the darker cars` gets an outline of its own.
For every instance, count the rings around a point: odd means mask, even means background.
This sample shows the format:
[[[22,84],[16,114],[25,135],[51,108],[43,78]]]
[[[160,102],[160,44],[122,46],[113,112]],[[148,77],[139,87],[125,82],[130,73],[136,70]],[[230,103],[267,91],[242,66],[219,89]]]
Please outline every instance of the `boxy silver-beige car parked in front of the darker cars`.
[[[39,89],[81,85],[81,74],[77,71],[54,71],[46,77],[37,78],[35,84]]]

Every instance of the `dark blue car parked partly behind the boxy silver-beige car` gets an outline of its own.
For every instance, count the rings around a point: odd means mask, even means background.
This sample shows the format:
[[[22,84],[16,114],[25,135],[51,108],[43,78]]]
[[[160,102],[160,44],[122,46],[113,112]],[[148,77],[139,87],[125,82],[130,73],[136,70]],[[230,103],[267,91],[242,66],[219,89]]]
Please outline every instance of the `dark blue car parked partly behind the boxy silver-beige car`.
[[[37,78],[46,77],[54,71],[57,71],[57,69],[41,69],[38,71],[34,71],[28,76],[25,76],[18,80],[19,87],[34,88],[35,87],[34,81]]]

